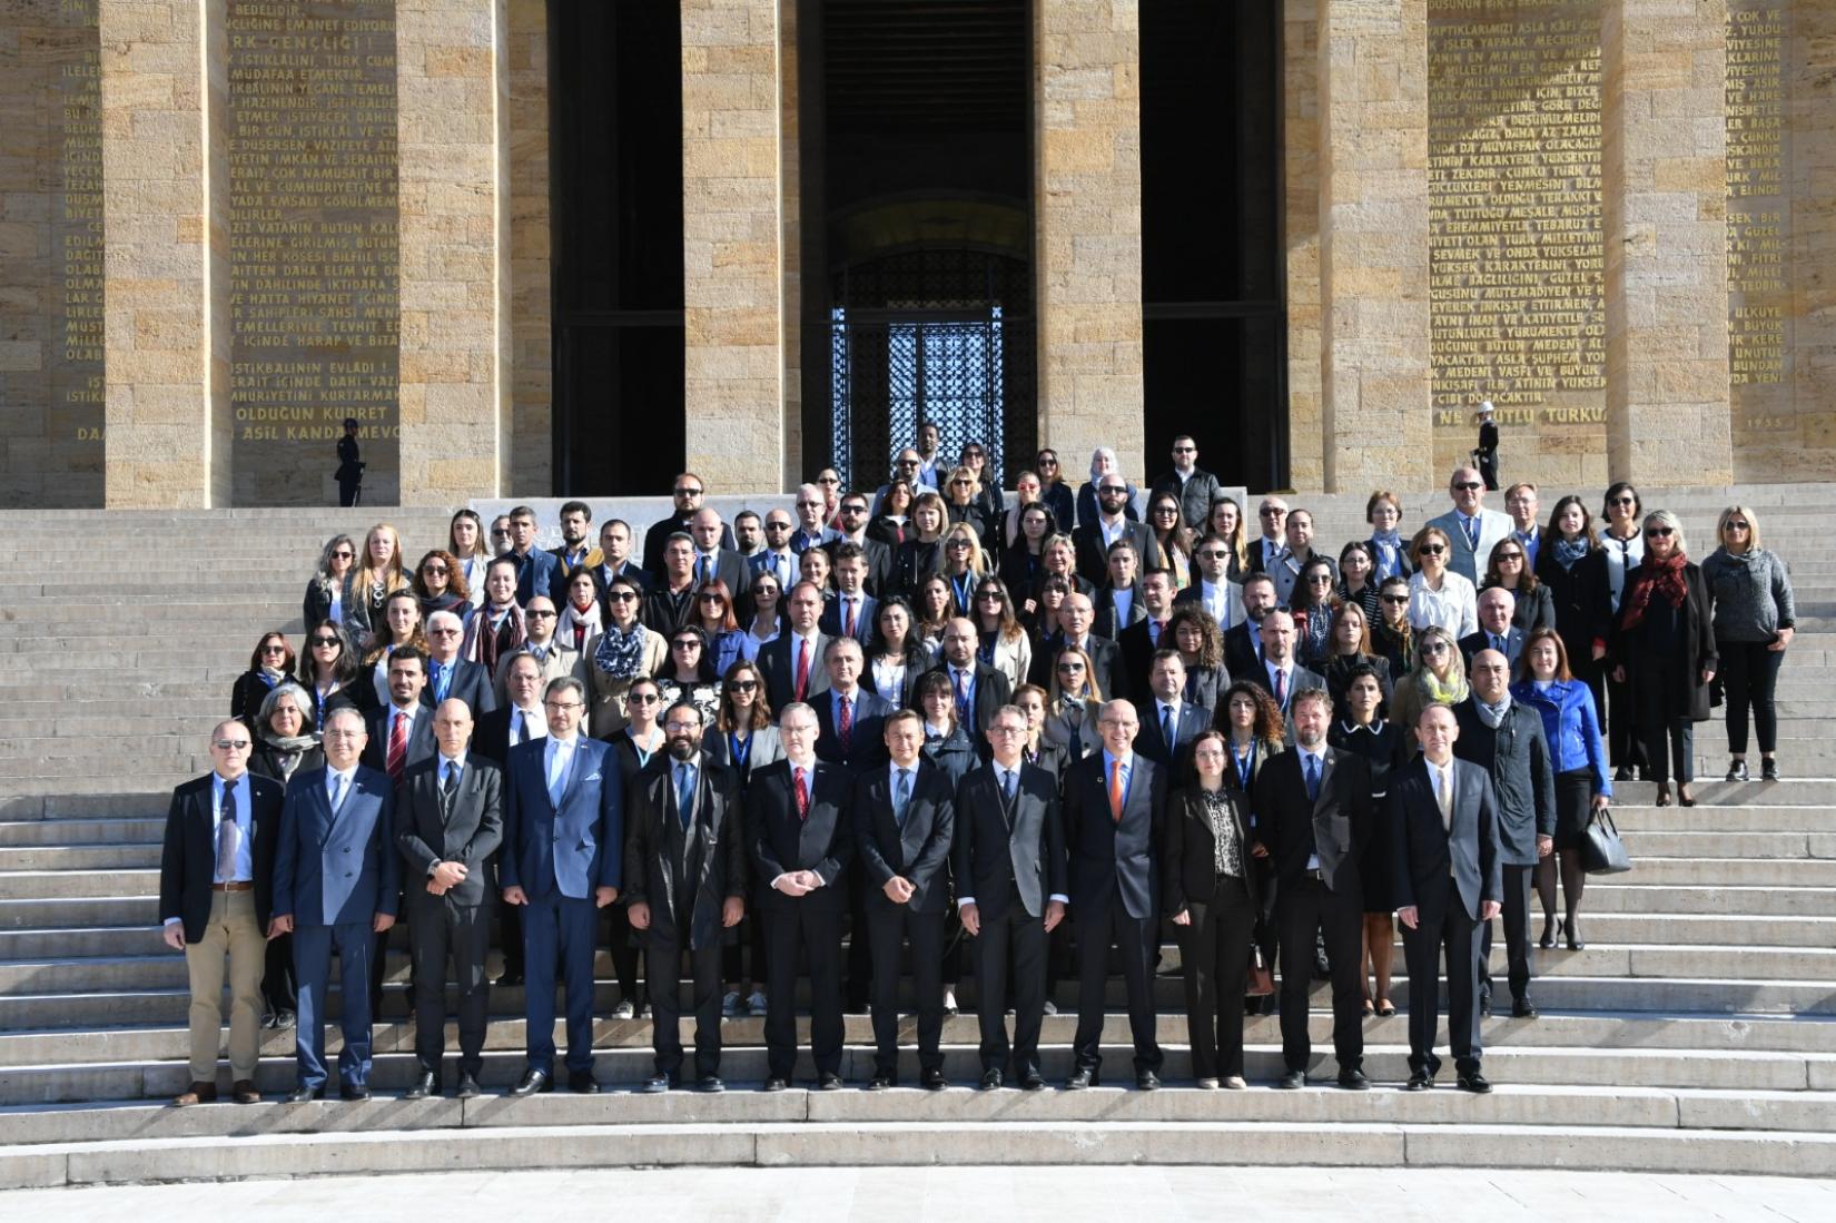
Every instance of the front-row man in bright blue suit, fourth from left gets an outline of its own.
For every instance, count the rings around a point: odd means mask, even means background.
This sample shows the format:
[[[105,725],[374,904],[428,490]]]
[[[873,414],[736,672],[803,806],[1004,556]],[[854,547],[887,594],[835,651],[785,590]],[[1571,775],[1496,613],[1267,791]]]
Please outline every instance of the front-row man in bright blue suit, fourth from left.
[[[529,1065],[512,1096],[554,1089],[554,966],[567,988],[567,1089],[593,1078],[593,931],[624,878],[624,788],[611,746],[580,735],[586,687],[564,676],[542,696],[545,738],[510,749],[503,898],[523,905]]]

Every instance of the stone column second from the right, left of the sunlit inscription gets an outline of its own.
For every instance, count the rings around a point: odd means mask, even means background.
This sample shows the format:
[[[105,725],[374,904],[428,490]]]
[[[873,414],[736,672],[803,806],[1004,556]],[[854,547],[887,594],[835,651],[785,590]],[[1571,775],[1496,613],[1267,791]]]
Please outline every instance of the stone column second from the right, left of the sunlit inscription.
[[[1427,0],[1318,0],[1326,490],[1432,488]]]

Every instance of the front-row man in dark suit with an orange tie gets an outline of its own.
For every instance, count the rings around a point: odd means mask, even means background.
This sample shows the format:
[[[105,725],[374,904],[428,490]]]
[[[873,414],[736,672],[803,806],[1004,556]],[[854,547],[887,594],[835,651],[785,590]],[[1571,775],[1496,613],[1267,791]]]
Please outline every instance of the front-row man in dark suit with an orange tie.
[[[1078,1030],[1074,1069],[1065,1083],[1098,1083],[1109,948],[1116,946],[1135,1036],[1135,1085],[1160,1085],[1155,1036],[1153,957],[1160,949],[1157,865],[1166,812],[1166,769],[1135,751],[1140,722],[1127,701],[1109,701],[1096,729],[1103,749],[1065,773],[1065,845],[1070,850],[1070,907],[1078,914]]]

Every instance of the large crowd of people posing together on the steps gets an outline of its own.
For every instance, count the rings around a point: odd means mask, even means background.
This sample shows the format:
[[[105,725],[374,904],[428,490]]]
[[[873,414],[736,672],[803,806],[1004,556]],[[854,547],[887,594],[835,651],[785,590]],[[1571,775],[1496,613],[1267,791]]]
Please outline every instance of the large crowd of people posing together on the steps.
[[[977,1085],[1041,1089],[1069,975],[1065,1087],[1092,1087],[1113,964],[1153,1089],[1166,933],[1201,1087],[1245,1085],[1245,1014],[1276,1004],[1276,1085],[1304,1087],[1322,979],[1335,1082],[1362,1089],[1364,1019],[1395,1014],[1397,927],[1406,1087],[1439,1069],[1445,964],[1458,1085],[1485,1093],[1495,918],[1511,1014],[1533,1019],[1537,948],[1583,946],[1583,839],[1614,782],[1693,804],[1711,687],[1728,777],[1750,779],[1750,722],[1779,775],[1792,589],[1750,507],[1720,514],[1698,564],[1630,485],[1599,525],[1579,496],[1544,522],[1535,485],[1500,512],[1460,468],[1445,512],[1405,533],[1379,490],[1368,538],[1335,553],[1280,496],[1252,518],[1190,437],[1146,496],[1109,450],[1076,492],[1052,450],[1012,483],[977,443],[949,463],[927,426],[870,492],[823,472],[733,522],[683,472],[643,529],[595,533],[567,501],[553,551],[529,507],[459,511],[419,558],[387,523],[329,540],[297,654],[261,635],[213,771],[173,795],[160,914],[187,955],[195,1080],[178,1104],[217,1098],[226,973],[233,1096],[259,1098],[268,1023],[297,1027],[290,1098],[321,1098],[334,955],[338,1093],[367,1098],[398,922],[409,1096],[446,1091],[450,984],[455,1089],[479,1094],[494,949],[496,984],[525,999],[510,1094],[562,1071],[599,1091],[600,948],[611,1015],[652,1019],[648,1091],[720,1091],[738,1014],[764,1017],[764,1089],[788,1087],[804,975],[817,1089],[843,1085],[843,1015],[868,1010],[865,1087],[896,1085],[901,1006],[916,1085],[946,1087],[968,982]],[[1274,995],[1245,997],[1252,964],[1278,971]]]

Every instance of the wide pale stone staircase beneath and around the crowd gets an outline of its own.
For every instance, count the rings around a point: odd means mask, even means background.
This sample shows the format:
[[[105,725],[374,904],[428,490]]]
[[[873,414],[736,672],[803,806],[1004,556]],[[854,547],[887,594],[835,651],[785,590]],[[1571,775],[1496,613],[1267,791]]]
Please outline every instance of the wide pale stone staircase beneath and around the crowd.
[[[1696,555],[1728,490],[1647,494],[1676,509]],[[1693,810],[1619,790],[1636,858],[1594,880],[1588,948],[1539,953],[1537,1021],[1485,1023],[1498,1091],[1401,1093],[1406,1021],[1366,1025],[1371,1093],[1190,1089],[1177,977],[1157,982],[1170,1089],[968,1091],[975,1019],[949,1019],[942,1094],[744,1087],[764,1078],[762,1021],[725,1023],[725,1096],[619,1091],[650,1071],[648,1021],[597,1023],[600,1096],[263,1104],[174,1111],[185,1069],[185,970],[152,929],[167,791],[207,766],[204,738],[255,637],[297,641],[299,595],[325,536],[376,518],[419,556],[435,511],[13,514],[0,545],[0,1186],[316,1172],[582,1164],[1463,1164],[1829,1175],[1836,1168],[1836,488],[1741,490],[1794,569],[1799,635],[1781,679],[1786,780],[1698,786]],[[1553,496],[1546,494],[1546,501]],[[1364,498],[1296,496],[1322,547],[1362,538]],[[1408,522],[1443,494],[1406,496]],[[1252,507],[1254,512],[1254,507]],[[106,573],[75,573],[75,542],[106,542]],[[97,580],[101,578],[101,580]],[[1726,768],[1698,727],[1704,779]],[[1502,960],[1502,948],[1498,951]],[[1164,971],[1177,971],[1170,942]],[[494,957],[496,973],[496,957]],[[617,1001],[600,955],[597,1014]],[[1498,964],[1502,970],[1502,962]],[[1401,977],[1401,957],[1397,959]],[[406,951],[391,955],[375,1085],[413,1072]],[[1399,979],[1395,999],[1405,1003]],[[962,990],[971,1004],[973,984]],[[1069,1069],[1074,1025],[1047,1019],[1045,1069]],[[1105,1067],[1125,1080],[1120,982]],[[336,1006],[336,997],[334,997]],[[494,990],[485,1080],[521,1067],[521,990]],[[1311,1028],[1331,1072],[1329,1014]],[[907,1041],[912,1039],[907,1021]],[[1247,1025],[1248,1076],[1280,1067],[1274,1019]],[[850,1082],[870,1028],[850,1015]],[[457,1036],[448,1030],[448,1047]],[[329,1034],[336,1049],[336,1032]],[[907,1067],[907,1072],[916,1067]],[[802,1067],[808,1071],[808,1065]],[[228,1080],[228,1069],[224,1069]],[[292,1085],[292,1034],[264,1032],[259,1085]]]

